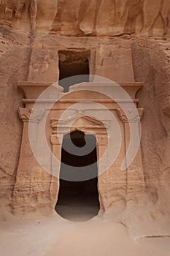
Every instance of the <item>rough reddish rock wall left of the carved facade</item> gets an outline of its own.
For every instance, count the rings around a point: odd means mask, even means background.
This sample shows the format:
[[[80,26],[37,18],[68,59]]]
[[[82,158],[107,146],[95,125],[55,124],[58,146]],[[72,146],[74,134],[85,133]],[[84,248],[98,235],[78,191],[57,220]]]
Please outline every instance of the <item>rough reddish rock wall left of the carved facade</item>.
[[[1,118],[1,164],[0,197],[9,205],[15,183],[22,123],[18,120],[18,108],[22,106],[23,93],[17,88],[18,79],[26,79],[29,61],[29,40],[16,37],[9,31],[0,34],[0,118]]]

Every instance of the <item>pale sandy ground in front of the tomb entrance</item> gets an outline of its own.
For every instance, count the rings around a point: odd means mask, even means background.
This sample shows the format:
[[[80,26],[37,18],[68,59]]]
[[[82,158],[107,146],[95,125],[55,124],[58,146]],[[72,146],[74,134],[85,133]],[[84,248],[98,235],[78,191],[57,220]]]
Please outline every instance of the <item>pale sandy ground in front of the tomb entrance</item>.
[[[136,240],[121,224],[98,217],[69,222],[61,217],[1,221],[3,256],[169,256],[170,238]]]

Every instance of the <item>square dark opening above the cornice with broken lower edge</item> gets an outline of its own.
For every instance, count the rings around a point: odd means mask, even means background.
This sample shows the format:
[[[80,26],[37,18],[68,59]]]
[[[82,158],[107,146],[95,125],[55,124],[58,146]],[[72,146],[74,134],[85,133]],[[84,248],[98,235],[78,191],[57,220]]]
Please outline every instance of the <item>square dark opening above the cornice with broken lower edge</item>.
[[[58,57],[58,84],[63,86],[65,92],[69,91],[69,86],[89,82],[89,50],[59,50]],[[74,77],[77,75],[78,77]]]

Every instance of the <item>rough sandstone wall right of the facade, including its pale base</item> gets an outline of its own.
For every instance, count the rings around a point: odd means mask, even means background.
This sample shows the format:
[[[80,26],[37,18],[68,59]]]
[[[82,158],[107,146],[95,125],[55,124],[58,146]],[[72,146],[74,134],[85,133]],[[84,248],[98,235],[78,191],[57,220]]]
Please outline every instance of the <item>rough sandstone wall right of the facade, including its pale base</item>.
[[[132,233],[169,233],[169,42],[136,39],[131,45],[135,80],[143,80],[138,92],[142,118],[142,162],[147,198],[120,208],[120,221],[133,227]],[[117,212],[115,219],[117,219]],[[156,227],[155,227],[156,220]],[[142,223],[141,223],[142,221]]]

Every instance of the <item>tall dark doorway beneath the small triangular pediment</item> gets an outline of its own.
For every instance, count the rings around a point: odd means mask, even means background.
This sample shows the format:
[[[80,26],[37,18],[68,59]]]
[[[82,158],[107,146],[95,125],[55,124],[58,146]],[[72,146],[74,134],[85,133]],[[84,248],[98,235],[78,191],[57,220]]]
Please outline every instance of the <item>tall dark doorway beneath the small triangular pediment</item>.
[[[70,138],[79,148],[86,145],[88,154],[77,156],[70,153]],[[96,137],[71,132],[63,137],[60,189],[55,211],[64,219],[85,221],[95,217],[99,209]]]

